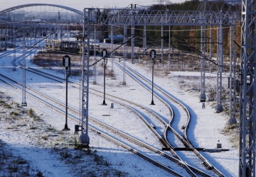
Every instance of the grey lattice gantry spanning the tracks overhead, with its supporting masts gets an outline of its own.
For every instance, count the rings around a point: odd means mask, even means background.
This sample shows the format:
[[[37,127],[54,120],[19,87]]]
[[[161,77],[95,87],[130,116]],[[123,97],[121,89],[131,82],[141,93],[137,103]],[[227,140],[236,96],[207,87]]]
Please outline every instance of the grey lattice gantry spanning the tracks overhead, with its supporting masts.
[[[240,21],[241,8],[238,4],[241,1],[202,1],[201,5],[196,11],[170,11],[166,10],[151,10],[136,8],[131,5],[130,8],[84,8],[84,26],[92,24],[102,25],[117,25],[123,26],[124,29],[127,26],[131,26],[132,37],[134,36],[134,26],[144,26],[144,35],[146,36],[146,26],[159,25],[159,26],[171,26],[171,25],[200,25],[202,39],[206,39],[206,26],[218,26],[219,28],[219,45],[218,47],[218,108],[222,109],[221,105],[221,89],[222,89],[222,72],[223,72],[223,26],[234,25],[234,21]],[[113,28],[111,28],[113,29]],[[161,28],[163,30],[163,28]],[[90,40],[90,31],[84,33],[85,38]],[[162,39],[163,40],[163,39]],[[206,42],[201,41],[201,52],[205,55]],[[163,42],[161,42],[163,43]],[[144,44],[145,46],[146,44]],[[161,46],[163,47],[163,46]],[[161,49],[161,51],[163,51]],[[89,56],[86,61],[84,60],[85,67],[89,67]],[[132,62],[134,61],[134,40],[132,40]],[[201,68],[204,68],[205,58],[201,57]],[[84,76],[83,89],[87,90],[89,81]],[[201,69],[201,91],[205,89],[205,70]],[[86,96],[85,93],[82,93]],[[202,96],[203,94],[201,94]],[[87,95],[88,96],[88,95]],[[84,100],[87,100],[86,98]],[[206,96],[203,96],[203,101],[206,100]],[[87,110],[87,104],[83,107],[83,110]],[[86,111],[85,111],[86,112]],[[87,115],[83,116],[87,119]]]

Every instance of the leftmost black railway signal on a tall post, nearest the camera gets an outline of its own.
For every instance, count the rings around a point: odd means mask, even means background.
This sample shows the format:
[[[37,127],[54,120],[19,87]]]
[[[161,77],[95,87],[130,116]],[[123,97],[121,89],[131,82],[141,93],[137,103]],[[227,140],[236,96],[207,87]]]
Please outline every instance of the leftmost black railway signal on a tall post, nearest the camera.
[[[69,131],[70,128],[68,128],[68,76],[70,75],[70,57],[68,55],[65,55],[63,57],[63,67],[65,67],[66,73],[65,73],[65,80],[66,80],[66,107],[65,107],[65,127],[63,131]],[[69,70],[69,72],[68,72]]]

